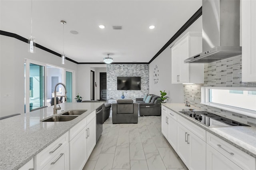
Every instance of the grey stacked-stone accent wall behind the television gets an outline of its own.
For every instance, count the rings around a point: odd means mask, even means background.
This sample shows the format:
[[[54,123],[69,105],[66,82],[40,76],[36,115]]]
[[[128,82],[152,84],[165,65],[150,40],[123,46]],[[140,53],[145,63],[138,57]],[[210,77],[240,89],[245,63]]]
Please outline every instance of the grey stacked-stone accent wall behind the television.
[[[117,77],[141,77],[141,90],[117,90]],[[108,64],[107,99],[135,99],[149,94],[149,64]]]

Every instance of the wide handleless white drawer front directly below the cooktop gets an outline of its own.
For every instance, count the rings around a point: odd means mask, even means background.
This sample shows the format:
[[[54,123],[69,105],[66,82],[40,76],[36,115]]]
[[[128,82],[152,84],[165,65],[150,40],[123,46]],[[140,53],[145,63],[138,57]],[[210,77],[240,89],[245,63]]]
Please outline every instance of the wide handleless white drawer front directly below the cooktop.
[[[204,140],[206,142],[206,130],[204,130],[201,127],[198,127],[194,123],[188,121],[184,117],[177,116],[178,122],[183,125],[184,127],[187,127],[192,133],[194,133],[196,136]]]

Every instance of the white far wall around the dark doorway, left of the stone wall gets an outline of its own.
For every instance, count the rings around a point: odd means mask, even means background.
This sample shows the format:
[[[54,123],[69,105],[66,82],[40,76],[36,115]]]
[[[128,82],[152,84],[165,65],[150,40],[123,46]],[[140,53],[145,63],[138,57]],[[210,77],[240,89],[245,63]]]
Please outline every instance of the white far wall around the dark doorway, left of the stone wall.
[[[83,97],[82,100],[91,99],[91,70],[96,71],[99,67],[106,67],[106,64],[78,64],[76,73],[76,95],[79,93],[79,95]]]

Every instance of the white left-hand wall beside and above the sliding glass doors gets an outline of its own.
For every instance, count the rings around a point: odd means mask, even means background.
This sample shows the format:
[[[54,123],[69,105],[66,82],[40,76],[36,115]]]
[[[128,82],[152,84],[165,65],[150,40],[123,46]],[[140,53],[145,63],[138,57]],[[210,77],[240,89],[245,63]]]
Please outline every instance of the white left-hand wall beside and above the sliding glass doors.
[[[61,57],[36,48],[36,53],[29,53],[28,44],[0,35],[0,117],[15,113],[24,113],[24,61],[30,59],[46,64],[77,70],[77,64],[66,61],[61,64]]]

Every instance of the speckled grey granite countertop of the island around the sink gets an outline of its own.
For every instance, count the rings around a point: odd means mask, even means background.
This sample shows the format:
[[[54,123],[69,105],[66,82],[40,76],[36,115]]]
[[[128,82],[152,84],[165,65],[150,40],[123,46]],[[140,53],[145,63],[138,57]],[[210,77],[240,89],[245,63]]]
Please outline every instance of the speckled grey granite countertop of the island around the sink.
[[[87,110],[67,122],[40,122],[53,116],[53,106],[0,121],[0,169],[19,169],[103,103],[61,103],[58,115],[68,110]]]

